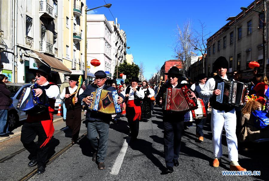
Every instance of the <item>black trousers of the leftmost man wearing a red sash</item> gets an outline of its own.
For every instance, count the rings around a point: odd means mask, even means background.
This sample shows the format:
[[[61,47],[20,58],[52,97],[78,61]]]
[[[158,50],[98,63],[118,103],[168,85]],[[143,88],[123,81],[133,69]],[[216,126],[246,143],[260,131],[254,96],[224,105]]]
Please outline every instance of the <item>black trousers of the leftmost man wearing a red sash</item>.
[[[34,142],[36,136],[38,136],[37,145]],[[21,142],[24,148],[29,151],[31,159],[37,159],[38,165],[45,165],[48,157],[48,144],[40,148],[46,139],[47,135],[40,121],[23,124]]]

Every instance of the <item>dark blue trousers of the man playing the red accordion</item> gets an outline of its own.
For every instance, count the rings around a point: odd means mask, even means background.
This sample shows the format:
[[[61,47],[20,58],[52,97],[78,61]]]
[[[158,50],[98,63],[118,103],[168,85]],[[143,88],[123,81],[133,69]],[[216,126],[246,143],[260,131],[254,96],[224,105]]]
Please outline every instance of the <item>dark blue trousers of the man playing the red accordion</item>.
[[[184,115],[183,115],[184,116]],[[175,119],[175,118],[173,118]],[[177,118],[178,119],[178,118]],[[180,146],[181,146],[181,137],[183,134],[184,121],[172,122],[165,121],[163,122],[164,126],[164,154],[165,154],[165,164],[166,167],[173,167],[173,159],[177,160],[179,157]]]

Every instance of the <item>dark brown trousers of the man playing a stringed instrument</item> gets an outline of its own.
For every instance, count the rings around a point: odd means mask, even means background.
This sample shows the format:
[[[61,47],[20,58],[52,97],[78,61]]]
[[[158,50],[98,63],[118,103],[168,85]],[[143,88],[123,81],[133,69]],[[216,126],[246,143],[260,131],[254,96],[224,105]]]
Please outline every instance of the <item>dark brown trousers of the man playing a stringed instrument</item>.
[[[72,140],[77,141],[81,126],[81,108],[66,110],[66,126],[72,130]]]

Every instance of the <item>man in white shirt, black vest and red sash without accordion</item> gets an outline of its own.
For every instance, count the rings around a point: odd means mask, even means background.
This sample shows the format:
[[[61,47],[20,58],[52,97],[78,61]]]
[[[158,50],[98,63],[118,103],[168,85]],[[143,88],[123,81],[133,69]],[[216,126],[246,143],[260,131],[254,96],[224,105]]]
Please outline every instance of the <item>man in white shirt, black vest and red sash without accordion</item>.
[[[144,92],[138,86],[139,78],[133,76],[131,85],[128,85],[122,94],[125,96],[126,117],[131,131],[131,142],[135,141],[139,132],[139,121],[141,120],[141,101],[145,97]]]

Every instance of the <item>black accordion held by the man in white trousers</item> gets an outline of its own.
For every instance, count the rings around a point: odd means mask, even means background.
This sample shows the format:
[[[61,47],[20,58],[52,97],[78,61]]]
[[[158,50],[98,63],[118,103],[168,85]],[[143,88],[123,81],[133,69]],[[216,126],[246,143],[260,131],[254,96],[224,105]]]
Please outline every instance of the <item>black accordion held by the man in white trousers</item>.
[[[244,106],[244,98],[247,95],[247,84],[238,81],[226,81],[218,83],[221,91],[216,96],[216,101],[230,106]]]

